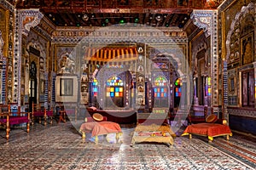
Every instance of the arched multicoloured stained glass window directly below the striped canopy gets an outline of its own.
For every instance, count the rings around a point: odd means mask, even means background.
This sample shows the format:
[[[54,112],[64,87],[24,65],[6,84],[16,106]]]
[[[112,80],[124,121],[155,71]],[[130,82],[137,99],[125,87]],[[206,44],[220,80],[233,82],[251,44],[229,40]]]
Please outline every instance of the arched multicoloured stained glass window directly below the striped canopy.
[[[119,77],[108,79],[107,86],[107,97],[123,97],[124,82]]]

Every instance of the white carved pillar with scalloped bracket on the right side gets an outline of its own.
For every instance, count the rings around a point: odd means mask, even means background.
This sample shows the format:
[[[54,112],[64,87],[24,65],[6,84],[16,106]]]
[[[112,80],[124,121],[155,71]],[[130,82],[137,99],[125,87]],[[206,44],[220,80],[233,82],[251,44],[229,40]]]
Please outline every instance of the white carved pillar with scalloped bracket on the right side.
[[[213,112],[218,112],[218,11],[194,10],[191,14],[195,26],[202,28],[206,37],[211,36],[211,80]]]

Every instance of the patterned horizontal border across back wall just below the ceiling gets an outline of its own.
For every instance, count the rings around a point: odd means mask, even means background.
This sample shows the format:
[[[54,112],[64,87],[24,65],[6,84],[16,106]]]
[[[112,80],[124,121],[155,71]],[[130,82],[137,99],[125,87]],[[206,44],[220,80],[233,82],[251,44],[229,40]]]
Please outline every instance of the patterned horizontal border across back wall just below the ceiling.
[[[83,29],[58,29],[53,32],[52,42],[62,43],[113,43],[120,42],[148,42],[148,43],[187,43],[186,32],[180,29],[161,30],[153,27],[109,26],[98,30]],[[168,38],[170,37],[170,38]]]

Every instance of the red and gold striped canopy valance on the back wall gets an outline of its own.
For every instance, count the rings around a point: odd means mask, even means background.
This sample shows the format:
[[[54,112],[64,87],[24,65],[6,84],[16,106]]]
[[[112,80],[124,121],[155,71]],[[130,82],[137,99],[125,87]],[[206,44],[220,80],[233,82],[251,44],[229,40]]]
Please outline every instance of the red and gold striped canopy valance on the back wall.
[[[122,62],[138,58],[137,48],[85,48],[84,59],[97,62]]]

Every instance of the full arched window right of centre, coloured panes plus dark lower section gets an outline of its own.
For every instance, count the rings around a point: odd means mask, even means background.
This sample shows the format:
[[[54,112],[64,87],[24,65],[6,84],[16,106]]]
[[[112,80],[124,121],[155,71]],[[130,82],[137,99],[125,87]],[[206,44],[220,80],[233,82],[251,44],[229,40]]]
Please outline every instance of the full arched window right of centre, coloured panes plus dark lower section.
[[[168,88],[166,77],[154,80],[154,107],[168,107]]]

